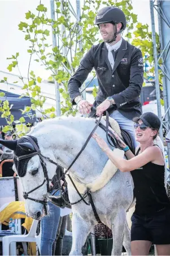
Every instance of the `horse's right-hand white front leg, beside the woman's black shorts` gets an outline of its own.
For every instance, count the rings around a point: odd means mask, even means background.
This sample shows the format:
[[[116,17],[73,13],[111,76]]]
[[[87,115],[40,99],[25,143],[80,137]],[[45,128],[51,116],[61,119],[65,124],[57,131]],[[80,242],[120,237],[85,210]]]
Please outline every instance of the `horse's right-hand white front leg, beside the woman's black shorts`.
[[[112,221],[113,247],[112,255],[121,255],[126,223],[126,212],[120,208]]]

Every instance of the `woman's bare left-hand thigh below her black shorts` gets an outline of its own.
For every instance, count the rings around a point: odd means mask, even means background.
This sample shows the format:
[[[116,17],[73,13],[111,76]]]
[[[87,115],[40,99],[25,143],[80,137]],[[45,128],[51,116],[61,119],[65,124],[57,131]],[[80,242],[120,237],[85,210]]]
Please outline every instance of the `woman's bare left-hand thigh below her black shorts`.
[[[149,250],[151,247],[150,241],[138,240],[131,242],[131,251],[133,255],[149,255]],[[159,255],[159,254],[158,254]]]

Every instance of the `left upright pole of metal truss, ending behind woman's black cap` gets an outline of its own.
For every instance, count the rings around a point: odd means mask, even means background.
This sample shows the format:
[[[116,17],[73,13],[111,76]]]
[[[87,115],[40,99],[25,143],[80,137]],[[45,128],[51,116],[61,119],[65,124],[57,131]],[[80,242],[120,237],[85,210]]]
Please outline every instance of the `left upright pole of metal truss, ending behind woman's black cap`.
[[[157,57],[157,49],[156,49],[156,35],[155,35],[155,19],[154,19],[154,2],[150,1],[150,14],[151,14],[151,26],[152,26],[152,42],[154,49],[154,63],[155,63],[155,87],[156,87],[156,100],[158,107],[158,117],[162,120],[161,114],[161,104],[160,104],[160,88],[159,88],[159,73],[158,73],[158,57]],[[160,139],[163,142],[163,126],[162,122],[159,130]]]

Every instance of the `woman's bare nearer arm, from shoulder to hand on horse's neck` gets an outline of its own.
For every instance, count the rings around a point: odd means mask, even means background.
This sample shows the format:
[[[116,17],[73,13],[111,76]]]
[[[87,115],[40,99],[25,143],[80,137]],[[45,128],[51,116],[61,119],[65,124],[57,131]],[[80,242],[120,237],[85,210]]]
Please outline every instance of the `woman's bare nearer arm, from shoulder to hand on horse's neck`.
[[[154,161],[159,157],[160,150],[158,147],[148,147],[140,155],[132,157],[130,160],[122,159],[121,157],[115,157],[114,151],[112,151],[104,140],[96,133],[93,134],[93,138],[97,141],[102,150],[106,153],[108,158],[116,165],[121,172],[130,172],[131,170],[138,169],[143,165]],[[128,151],[127,151],[128,152]]]

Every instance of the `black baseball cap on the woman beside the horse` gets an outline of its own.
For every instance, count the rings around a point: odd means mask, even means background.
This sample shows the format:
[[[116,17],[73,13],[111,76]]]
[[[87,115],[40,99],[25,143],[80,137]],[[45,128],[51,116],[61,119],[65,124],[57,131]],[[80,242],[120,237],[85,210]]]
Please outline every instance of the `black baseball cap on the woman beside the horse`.
[[[160,128],[160,119],[158,116],[156,116],[156,114],[152,112],[146,112],[143,113],[140,117],[134,117],[132,121],[137,123],[139,120],[142,120],[144,125],[148,127],[158,130]]]

